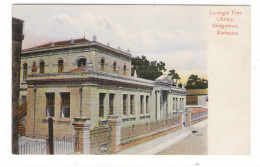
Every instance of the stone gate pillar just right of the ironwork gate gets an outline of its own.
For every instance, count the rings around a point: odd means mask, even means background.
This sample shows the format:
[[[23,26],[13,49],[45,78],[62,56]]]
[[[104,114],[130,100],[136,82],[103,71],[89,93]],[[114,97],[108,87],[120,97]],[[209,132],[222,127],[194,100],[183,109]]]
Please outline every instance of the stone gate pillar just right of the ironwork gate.
[[[119,116],[108,116],[108,127],[111,130],[111,154],[121,149],[121,122]]]

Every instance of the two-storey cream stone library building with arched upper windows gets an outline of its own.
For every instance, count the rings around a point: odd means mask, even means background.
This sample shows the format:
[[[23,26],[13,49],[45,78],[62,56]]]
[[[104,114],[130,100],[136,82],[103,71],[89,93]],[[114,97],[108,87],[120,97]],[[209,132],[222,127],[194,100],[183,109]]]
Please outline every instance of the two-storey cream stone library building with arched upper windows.
[[[72,122],[88,117],[91,128],[108,115],[122,126],[170,119],[183,113],[186,90],[168,76],[155,81],[131,76],[130,51],[85,38],[52,42],[22,51],[20,103],[27,102],[26,136],[48,134],[53,117],[56,136],[73,136]]]

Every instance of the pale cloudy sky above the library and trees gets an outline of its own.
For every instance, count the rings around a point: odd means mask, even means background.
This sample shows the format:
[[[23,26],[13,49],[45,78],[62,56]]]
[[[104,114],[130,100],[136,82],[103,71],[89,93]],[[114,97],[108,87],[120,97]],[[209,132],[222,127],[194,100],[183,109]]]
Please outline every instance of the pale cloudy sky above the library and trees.
[[[24,20],[23,49],[93,35],[133,56],[163,61],[185,83],[191,74],[207,78],[205,11],[174,5],[13,5]]]

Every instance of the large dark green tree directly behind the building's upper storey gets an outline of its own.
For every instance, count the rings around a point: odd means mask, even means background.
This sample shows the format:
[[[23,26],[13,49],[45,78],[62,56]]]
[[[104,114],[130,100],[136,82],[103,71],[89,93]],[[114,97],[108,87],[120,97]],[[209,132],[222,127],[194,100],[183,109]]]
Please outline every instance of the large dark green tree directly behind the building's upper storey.
[[[166,71],[165,63],[149,61],[145,56],[132,58],[132,75],[136,70],[137,76],[144,79],[155,80]]]

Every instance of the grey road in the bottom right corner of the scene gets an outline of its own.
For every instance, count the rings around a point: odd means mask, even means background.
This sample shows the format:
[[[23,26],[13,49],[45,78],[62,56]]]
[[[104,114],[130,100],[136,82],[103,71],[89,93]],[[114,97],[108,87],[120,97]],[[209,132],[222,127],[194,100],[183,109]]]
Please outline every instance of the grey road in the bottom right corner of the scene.
[[[208,126],[161,151],[159,155],[207,155]]]

